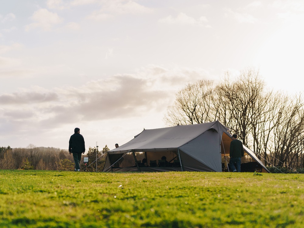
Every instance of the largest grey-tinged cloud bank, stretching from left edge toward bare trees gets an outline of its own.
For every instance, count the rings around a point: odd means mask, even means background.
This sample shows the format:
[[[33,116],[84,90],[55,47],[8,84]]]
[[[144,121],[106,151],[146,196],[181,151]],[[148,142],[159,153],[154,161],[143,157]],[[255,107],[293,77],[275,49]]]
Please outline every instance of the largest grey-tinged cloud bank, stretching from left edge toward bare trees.
[[[47,130],[63,124],[127,120],[164,112],[179,88],[206,75],[203,69],[150,65],[135,74],[117,74],[81,87],[0,94],[0,131],[4,125]]]

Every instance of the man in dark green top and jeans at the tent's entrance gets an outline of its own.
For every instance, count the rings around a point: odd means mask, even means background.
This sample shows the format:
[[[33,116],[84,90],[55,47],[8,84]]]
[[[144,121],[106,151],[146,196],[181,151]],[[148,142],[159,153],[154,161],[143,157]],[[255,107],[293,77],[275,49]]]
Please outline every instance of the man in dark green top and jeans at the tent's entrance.
[[[241,157],[244,156],[243,143],[237,139],[237,135],[232,135],[232,141],[230,143],[230,161],[229,168],[232,172],[241,171]],[[236,163],[236,167],[234,166]]]

